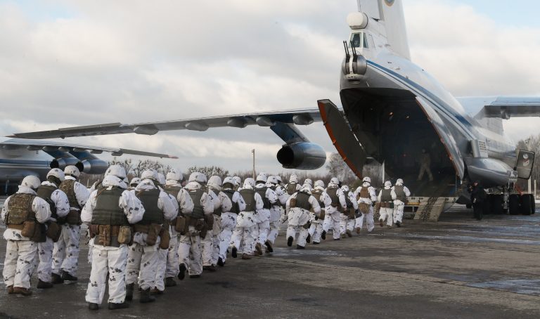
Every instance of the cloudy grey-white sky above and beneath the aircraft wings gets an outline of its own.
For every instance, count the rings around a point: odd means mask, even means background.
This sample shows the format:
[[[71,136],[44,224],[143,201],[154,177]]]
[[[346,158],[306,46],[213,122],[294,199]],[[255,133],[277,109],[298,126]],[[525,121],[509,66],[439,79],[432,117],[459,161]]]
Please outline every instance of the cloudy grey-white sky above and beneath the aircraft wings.
[[[537,1],[404,1],[411,56],[455,96],[539,96]],[[355,0],[2,1],[0,134],[339,102]],[[539,119],[511,119],[515,140]],[[335,152],[322,124],[302,128]],[[70,139],[178,155],[170,164],[283,171],[269,129]],[[105,157],[106,158],[106,157]]]

